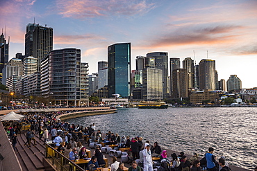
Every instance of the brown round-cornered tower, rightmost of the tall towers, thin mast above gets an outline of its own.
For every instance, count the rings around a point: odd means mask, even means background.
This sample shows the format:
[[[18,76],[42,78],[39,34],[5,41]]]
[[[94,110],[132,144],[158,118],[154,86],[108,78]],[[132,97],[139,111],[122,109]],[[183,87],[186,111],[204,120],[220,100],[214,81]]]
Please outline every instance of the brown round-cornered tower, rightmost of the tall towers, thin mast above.
[[[215,60],[201,60],[199,62],[199,89],[216,89]]]

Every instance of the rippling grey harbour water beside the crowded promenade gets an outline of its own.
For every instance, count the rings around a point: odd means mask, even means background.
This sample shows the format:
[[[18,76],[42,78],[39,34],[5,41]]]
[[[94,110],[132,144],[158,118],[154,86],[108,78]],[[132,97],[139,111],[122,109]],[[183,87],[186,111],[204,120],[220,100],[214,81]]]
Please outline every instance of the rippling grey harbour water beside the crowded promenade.
[[[118,109],[116,114],[67,120],[101,132],[142,136],[161,147],[201,156],[214,147],[233,165],[251,169],[257,163],[257,108]]]

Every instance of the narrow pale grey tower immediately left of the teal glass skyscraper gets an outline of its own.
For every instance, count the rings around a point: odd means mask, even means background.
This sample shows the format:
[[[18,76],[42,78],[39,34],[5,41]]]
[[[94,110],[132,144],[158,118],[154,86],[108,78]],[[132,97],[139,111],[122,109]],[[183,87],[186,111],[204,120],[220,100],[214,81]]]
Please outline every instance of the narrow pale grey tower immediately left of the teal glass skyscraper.
[[[99,61],[98,62],[98,87],[105,87],[108,85],[108,62]]]

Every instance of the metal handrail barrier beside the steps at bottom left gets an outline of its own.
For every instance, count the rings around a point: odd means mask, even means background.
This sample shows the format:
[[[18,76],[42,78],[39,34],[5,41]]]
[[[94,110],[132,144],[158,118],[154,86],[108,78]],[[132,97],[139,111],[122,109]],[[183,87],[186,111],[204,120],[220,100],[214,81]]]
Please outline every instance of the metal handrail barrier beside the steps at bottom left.
[[[56,170],[60,171],[85,171],[79,165],[76,165],[74,161],[69,160],[65,155],[58,152],[56,149],[51,147],[51,145],[46,143],[45,151],[46,160],[48,160],[51,165]]]

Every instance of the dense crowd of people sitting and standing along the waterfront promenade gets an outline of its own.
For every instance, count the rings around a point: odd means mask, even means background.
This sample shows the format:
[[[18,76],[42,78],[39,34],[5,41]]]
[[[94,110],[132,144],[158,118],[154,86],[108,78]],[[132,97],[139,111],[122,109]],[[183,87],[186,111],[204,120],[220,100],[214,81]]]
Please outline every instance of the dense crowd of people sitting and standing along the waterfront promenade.
[[[70,111],[67,111],[70,112]],[[69,159],[87,159],[86,147],[83,146],[83,135],[88,135],[89,140],[85,144],[90,145],[92,142],[117,144],[119,148],[130,148],[128,157],[131,159],[131,167],[128,171],[153,171],[154,168],[160,171],[229,171],[229,164],[225,161],[224,156],[217,159],[213,155],[213,147],[208,149],[204,158],[199,160],[198,154],[194,153],[188,159],[183,152],[179,155],[176,153],[167,155],[166,150],[162,150],[158,142],[151,145],[149,141],[143,142],[142,137],[119,136],[113,132],[107,132],[105,135],[100,129],[96,129],[94,123],[88,127],[82,125],[74,125],[61,120],[56,120],[56,116],[65,114],[65,111],[51,113],[34,113],[28,114],[22,118],[22,122],[31,125],[26,132],[26,143],[31,147],[31,140],[35,142],[35,134],[38,134],[40,142],[44,138],[44,143],[51,141],[58,147],[59,152],[69,152]],[[4,125],[10,136],[10,141],[13,142],[13,148],[17,143],[17,134],[21,132],[21,124],[17,123],[13,126]],[[152,160],[152,157],[159,157],[159,161]],[[94,156],[91,157],[88,165],[83,165],[87,170],[94,170],[98,167],[106,165],[103,160],[103,154],[98,146],[94,151]],[[113,164],[110,165],[110,171],[123,171],[124,163],[119,163],[116,157],[113,157]],[[257,171],[257,167],[255,168]]]

